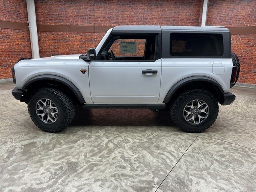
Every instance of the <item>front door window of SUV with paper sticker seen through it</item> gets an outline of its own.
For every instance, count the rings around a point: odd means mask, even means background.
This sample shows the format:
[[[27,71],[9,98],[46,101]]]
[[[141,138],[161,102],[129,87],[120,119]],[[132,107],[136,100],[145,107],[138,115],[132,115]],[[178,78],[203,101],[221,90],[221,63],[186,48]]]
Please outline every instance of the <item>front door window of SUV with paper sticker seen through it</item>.
[[[154,34],[112,34],[100,52],[98,60],[154,61],[156,56]]]

